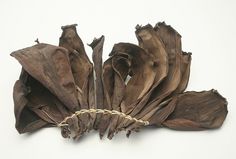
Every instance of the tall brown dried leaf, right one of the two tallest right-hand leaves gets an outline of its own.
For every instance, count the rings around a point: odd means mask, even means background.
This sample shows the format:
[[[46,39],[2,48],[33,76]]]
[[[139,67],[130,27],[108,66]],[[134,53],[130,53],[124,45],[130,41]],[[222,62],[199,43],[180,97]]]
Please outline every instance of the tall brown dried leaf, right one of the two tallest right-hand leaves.
[[[156,87],[149,99],[148,104],[137,116],[145,119],[151,117],[158,108],[158,105],[176,90],[181,81],[181,36],[170,26],[161,23],[155,27],[156,34],[165,45],[168,54],[169,72],[167,77]]]

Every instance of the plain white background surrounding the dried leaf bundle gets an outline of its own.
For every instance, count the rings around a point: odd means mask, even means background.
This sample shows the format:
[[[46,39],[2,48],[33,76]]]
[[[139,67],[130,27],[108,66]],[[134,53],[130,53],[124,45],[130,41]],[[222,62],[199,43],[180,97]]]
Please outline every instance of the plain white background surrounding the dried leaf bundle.
[[[0,158],[181,158],[235,159],[236,147],[236,1],[234,0],[86,0],[0,1]],[[184,51],[192,52],[188,90],[217,89],[228,99],[229,114],[222,128],[181,132],[145,129],[126,139],[99,140],[90,133],[81,141],[63,139],[59,129],[19,135],[14,128],[12,88],[20,65],[9,56],[40,42],[57,45],[60,27],[78,23],[84,43],[105,35],[104,57],[114,43],[132,42],[136,24],[165,21],[181,35]],[[86,46],[87,53],[91,49]]]

